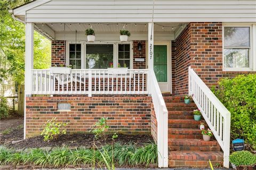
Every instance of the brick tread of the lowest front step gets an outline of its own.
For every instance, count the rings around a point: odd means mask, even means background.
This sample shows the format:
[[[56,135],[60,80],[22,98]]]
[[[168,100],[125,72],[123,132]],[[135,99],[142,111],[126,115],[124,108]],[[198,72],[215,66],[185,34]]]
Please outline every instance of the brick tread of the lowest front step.
[[[171,160],[223,160],[223,152],[221,151],[169,151],[169,159]]]

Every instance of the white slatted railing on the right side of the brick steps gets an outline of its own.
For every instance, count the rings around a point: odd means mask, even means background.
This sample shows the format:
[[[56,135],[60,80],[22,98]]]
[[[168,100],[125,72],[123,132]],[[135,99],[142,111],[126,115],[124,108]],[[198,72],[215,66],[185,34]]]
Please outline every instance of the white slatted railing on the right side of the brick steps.
[[[189,95],[224,152],[223,166],[229,168],[230,112],[190,67],[188,74]]]

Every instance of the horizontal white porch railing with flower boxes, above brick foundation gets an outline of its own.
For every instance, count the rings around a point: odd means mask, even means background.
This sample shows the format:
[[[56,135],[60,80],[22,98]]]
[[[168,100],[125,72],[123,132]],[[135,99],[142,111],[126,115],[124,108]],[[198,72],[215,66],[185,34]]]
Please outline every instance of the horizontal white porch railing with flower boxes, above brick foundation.
[[[31,76],[35,95],[148,94],[147,69],[130,69],[124,74],[110,74],[107,69],[73,69],[70,74],[34,69]]]

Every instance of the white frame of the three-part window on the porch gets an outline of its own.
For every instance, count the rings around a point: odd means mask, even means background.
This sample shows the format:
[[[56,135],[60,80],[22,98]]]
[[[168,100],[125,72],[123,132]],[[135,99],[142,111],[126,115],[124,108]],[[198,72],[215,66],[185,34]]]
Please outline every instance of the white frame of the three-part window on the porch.
[[[113,44],[113,66],[116,68],[118,63],[118,44],[130,44],[130,69],[133,69],[133,41],[121,43],[120,41],[94,41],[89,43],[86,41],[66,41],[66,64],[69,65],[69,44],[82,44],[81,45],[81,69],[86,68],[86,44]]]

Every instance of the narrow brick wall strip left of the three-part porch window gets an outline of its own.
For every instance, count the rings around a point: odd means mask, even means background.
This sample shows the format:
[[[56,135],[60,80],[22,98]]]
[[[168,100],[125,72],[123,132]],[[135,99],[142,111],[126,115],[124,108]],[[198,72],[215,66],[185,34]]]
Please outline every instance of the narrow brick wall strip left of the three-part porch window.
[[[66,63],[66,45],[65,41],[52,41],[52,66],[65,65]]]

